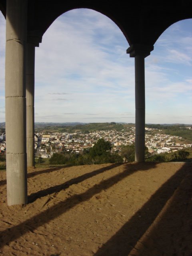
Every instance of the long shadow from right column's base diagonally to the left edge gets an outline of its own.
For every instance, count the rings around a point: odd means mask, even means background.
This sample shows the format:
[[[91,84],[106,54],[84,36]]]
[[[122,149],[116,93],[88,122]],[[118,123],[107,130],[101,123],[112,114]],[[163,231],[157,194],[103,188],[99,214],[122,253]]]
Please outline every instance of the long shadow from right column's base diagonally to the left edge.
[[[114,165],[115,167],[116,165]],[[95,194],[98,194],[102,190],[106,190],[116,184],[117,182],[120,182],[127,176],[133,174],[134,172],[137,172],[138,170],[148,170],[149,168],[152,168],[155,166],[155,164],[124,164],[125,170],[123,172],[120,172],[106,180],[103,180],[99,184],[95,184],[92,188],[89,188],[86,192],[78,195],[74,195],[70,198],[67,198],[66,200],[59,202],[58,204],[50,207],[47,210],[44,210],[43,212],[40,212],[36,216],[16,225],[9,229],[6,229],[2,232],[0,232],[0,248],[3,247],[5,244],[9,244],[9,242],[18,239],[20,236],[26,234],[29,230],[35,230],[39,226],[42,226],[43,224],[46,224],[50,222],[51,220],[54,220],[64,212],[67,212],[74,206],[85,202],[86,200],[89,200],[94,196]],[[109,166],[110,167],[110,166]],[[102,168],[103,169],[103,168]],[[99,170],[101,172],[101,170]],[[90,174],[88,174],[90,176]],[[108,254],[110,255],[110,254]]]

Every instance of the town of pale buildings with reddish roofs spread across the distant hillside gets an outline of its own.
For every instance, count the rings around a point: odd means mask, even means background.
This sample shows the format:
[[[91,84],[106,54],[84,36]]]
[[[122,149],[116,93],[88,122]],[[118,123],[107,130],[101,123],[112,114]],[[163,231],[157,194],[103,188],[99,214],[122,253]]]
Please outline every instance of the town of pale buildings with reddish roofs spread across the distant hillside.
[[[109,141],[112,144],[112,152],[119,152],[122,146],[134,144],[135,128],[124,130],[101,130],[84,134],[82,132],[69,133],[38,133],[36,134],[35,147],[41,140],[39,156],[50,158],[56,152],[74,152],[82,153],[98,141],[100,138]],[[191,147],[192,144],[182,144],[182,138],[161,134],[161,130],[146,128],[146,146],[150,153],[159,154],[164,152],[177,151],[178,149]]]

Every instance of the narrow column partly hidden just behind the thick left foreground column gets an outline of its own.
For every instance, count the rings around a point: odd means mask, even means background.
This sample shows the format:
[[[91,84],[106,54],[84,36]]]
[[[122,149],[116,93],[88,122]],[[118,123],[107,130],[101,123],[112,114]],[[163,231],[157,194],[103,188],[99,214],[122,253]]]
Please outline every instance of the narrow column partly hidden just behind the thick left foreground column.
[[[34,166],[34,72],[35,44],[26,44],[26,136],[27,166]]]

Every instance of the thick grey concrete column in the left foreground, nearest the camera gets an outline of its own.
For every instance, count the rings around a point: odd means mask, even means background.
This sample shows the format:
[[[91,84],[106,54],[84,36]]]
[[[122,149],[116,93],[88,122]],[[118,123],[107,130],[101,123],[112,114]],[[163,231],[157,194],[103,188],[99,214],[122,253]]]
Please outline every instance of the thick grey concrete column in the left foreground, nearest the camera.
[[[6,174],[8,205],[27,203],[25,44],[27,1],[6,1]]]

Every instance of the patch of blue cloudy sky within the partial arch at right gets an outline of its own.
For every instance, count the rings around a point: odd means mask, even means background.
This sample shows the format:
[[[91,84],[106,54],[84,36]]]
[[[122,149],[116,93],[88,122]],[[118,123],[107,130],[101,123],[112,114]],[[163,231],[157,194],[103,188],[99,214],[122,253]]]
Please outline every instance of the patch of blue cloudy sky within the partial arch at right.
[[[146,123],[192,124],[192,19],[172,24],[146,58]]]

